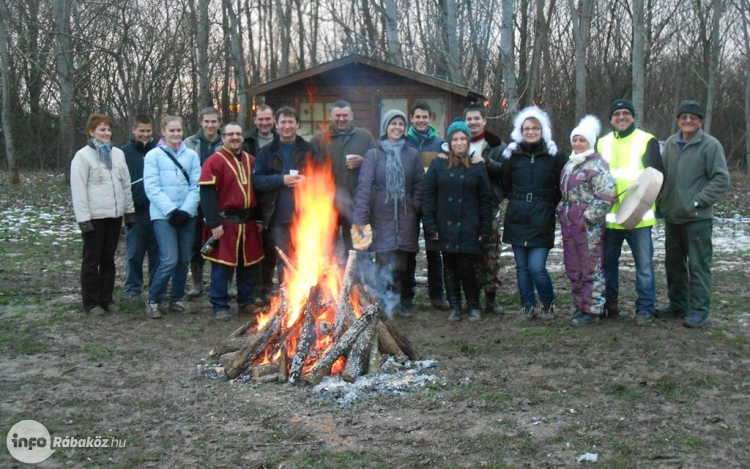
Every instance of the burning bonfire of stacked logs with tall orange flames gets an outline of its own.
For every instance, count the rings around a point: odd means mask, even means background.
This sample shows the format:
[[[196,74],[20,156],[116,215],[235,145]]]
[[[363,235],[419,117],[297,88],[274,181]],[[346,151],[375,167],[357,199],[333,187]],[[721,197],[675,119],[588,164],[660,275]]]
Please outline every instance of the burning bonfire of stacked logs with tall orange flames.
[[[421,357],[382,311],[366,285],[357,282],[358,259],[350,251],[346,267],[336,263],[338,213],[330,166],[305,168],[295,187],[297,207],[291,228],[284,282],[271,304],[211,350],[218,370],[230,379],[252,373],[256,380],[317,384],[340,374],[347,381],[377,373],[392,356],[397,362]]]

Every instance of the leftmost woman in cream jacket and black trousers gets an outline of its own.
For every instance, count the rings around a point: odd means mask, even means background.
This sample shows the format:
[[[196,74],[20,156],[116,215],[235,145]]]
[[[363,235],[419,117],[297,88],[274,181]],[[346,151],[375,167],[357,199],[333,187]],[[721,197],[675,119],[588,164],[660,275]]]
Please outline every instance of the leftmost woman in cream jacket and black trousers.
[[[92,314],[116,313],[115,251],[125,224],[135,221],[130,173],[122,150],[112,146],[112,119],[92,114],[86,123],[89,141],[70,164],[73,211],[83,234],[81,296]]]

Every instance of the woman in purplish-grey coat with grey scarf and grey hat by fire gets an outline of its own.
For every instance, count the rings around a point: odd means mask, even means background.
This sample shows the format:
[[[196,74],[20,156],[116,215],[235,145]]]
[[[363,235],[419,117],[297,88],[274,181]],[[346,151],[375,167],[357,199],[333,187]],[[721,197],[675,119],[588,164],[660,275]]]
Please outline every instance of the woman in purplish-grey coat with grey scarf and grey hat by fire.
[[[385,113],[383,135],[365,153],[354,199],[354,223],[372,229],[370,251],[378,265],[379,293],[386,312],[408,316],[411,304],[402,300],[411,288],[407,253],[419,251],[419,219],[424,169],[419,150],[406,145],[406,115]]]

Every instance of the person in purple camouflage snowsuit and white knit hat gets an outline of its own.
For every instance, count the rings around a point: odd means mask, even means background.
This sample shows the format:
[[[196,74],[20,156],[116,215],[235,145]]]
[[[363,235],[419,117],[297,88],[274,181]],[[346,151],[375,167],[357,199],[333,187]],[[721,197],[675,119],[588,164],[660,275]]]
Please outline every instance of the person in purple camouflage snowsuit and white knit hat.
[[[609,165],[595,151],[600,130],[596,117],[581,119],[570,134],[573,153],[560,174],[562,200],[557,212],[576,326],[597,324],[604,309],[602,241],[605,216],[615,200],[615,181]]]

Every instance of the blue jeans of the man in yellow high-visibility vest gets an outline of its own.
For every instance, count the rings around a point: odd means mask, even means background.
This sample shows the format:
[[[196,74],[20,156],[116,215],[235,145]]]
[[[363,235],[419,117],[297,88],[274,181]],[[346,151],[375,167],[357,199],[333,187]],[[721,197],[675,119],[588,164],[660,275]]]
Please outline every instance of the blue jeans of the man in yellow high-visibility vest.
[[[606,295],[613,297],[620,291],[619,262],[623,241],[628,242],[635,261],[635,311],[638,314],[654,314],[656,309],[656,283],[654,281],[654,243],[651,227],[633,230],[604,231],[604,279]]]

